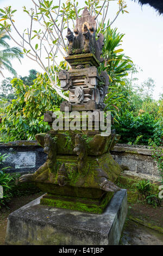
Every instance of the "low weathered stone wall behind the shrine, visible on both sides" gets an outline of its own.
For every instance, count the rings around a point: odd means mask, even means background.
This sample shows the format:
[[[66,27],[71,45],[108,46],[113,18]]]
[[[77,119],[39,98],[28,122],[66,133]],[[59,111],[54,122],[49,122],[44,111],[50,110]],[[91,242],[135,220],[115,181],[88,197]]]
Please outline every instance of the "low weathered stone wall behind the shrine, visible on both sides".
[[[8,155],[3,167],[10,166],[10,173],[33,173],[46,161],[46,154],[36,141],[0,144],[0,153]],[[157,164],[148,147],[116,144],[111,155],[119,164],[128,166],[129,170],[124,170],[124,174],[140,176],[154,181],[160,180]]]

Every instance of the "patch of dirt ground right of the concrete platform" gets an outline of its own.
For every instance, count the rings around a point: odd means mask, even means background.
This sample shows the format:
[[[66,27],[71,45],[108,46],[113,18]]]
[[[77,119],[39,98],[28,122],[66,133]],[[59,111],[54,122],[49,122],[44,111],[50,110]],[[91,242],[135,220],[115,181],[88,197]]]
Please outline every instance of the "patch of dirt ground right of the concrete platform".
[[[128,204],[128,215],[124,224],[121,245],[163,245],[163,234],[145,225],[130,220],[130,217],[163,227],[163,207],[153,208],[151,205]]]

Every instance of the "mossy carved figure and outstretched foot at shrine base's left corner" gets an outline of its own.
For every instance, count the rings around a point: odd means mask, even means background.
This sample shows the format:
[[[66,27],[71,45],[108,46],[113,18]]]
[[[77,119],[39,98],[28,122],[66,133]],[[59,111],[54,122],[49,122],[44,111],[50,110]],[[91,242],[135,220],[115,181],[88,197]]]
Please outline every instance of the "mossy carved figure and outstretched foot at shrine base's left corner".
[[[46,162],[35,173],[22,175],[19,179],[20,182],[43,182],[51,178],[51,174],[55,172],[56,167],[57,144],[49,134],[44,137],[43,151],[47,154]]]

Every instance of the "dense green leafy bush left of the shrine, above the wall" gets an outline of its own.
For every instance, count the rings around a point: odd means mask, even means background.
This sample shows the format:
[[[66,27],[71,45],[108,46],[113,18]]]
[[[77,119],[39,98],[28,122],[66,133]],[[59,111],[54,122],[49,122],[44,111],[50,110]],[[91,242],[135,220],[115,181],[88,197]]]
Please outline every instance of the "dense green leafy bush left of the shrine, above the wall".
[[[31,140],[36,133],[49,129],[43,122],[43,113],[59,107],[61,98],[51,87],[46,74],[39,75],[32,86],[14,78],[12,86],[16,99],[5,108],[1,124],[1,141]]]

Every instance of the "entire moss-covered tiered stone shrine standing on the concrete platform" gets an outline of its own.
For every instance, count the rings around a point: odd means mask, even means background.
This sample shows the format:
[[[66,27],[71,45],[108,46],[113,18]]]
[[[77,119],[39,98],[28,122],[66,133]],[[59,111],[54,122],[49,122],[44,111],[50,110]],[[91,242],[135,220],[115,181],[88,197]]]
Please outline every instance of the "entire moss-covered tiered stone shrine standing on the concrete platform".
[[[62,102],[65,111],[101,111],[108,91],[109,77],[105,71],[98,73],[104,37],[98,34],[96,21],[86,8],[77,19],[74,33],[68,29],[68,56],[71,69],[59,73],[60,85],[69,91],[69,101]],[[63,118],[65,120],[65,118]],[[45,113],[45,121],[52,128],[52,112]],[[94,122],[95,126],[95,122]],[[93,126],[93,127],[94,127]],[[89,129],[54,131],[36,135],[37,142],[47,153],[46,162],[34,174],[23,175],[21,182],[35,182],[43,192],[41,204],[101,214],[120,190],[114,182],[121,167],[110,154],[119,136],[101,136],[101,131]]]

